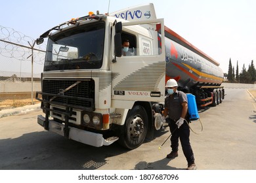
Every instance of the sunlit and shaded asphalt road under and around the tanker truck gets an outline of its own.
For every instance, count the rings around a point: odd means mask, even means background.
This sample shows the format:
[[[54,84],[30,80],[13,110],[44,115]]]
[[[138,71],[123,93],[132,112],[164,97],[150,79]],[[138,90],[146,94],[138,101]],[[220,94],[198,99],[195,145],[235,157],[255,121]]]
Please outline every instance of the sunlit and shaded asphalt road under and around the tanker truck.
[[[135,150],[114,143],[95,148],[45,131],[37,124],[41,110],[0,118],[1,170],[180,170],[186,159],[169,161],[169,129],[157,131],[156,139],[146,141]],[[217,107],[200,110],[203,131],[191,132],[190,142],[200,170],[256,169],[256,103],[245,89],[226,89]],[[200,122],[190,124],[196,132]]]

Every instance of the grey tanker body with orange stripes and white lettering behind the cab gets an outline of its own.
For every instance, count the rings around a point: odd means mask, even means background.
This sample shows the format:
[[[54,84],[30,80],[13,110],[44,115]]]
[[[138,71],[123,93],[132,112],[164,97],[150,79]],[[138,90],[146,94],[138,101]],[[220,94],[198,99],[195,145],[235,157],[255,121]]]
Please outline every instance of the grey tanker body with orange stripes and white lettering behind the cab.
[[[220,86],[223,82],[223,71],[217,61],[167,27],[165,53],[166,81],[175,78],[182,88]]]

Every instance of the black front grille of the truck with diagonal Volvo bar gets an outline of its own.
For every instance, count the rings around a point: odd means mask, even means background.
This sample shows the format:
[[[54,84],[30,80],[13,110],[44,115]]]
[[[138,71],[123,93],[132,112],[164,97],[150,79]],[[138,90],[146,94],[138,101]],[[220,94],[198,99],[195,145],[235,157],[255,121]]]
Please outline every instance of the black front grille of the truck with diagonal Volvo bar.
[[[80,81],[80,83],[76,84],[73,87],[70,87],[77,81]],[[51,100],[53,103],[64,103],[65,105],[70,105],[74,107],[94,107],[94,103],[92,103],[90,100],[86,100],[93,99],[94,101],[95,99],[95,82],[93,80],[45,79],[43,80],[42,92],[60,96],[49,97],[49,95],[43,95],[43,100]],[[79,98],[77,99],[77,97]],[[81,100],[81,98],[85,100]]]

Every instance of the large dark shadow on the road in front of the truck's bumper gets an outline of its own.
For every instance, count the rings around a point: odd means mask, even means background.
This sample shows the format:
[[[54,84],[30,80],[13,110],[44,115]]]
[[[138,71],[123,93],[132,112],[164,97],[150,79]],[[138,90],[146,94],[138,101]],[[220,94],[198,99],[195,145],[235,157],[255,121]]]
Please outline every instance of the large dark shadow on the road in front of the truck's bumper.
[[[96,148],[48,131],[0,139],[0,147],[1,170],[93,170],[129,151],[117,143]]]

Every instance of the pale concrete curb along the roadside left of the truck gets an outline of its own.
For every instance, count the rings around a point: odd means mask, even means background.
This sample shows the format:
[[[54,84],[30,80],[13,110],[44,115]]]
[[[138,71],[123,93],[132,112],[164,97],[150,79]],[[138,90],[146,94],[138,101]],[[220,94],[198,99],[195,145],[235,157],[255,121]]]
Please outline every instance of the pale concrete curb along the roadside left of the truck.
[[[22,114],[22,113],[30,112],[33,110],[39,110],[40,108],[41,108],[41,103],[37,103],[35,105],[26,105],[24,107],[0,110],[0,118],[4,118],[7,116],[12,116],[16,114]]]

